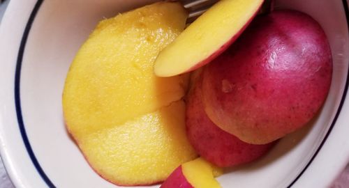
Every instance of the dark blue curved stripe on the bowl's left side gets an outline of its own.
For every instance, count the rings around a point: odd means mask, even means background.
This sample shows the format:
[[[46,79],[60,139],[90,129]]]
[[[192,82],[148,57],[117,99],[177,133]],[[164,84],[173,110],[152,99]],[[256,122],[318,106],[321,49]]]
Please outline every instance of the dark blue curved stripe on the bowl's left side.
[[[55,186],[53,185],[51,180],[47,177],[47,175],[41,168],[40,164],[38,163],[38,160],[34,155],[33,149],[31,148],[31,145],[29,143],[27,132],[25,130],[24,123],[23,123],[22,108],[21,108],[21,102],[20,102],[20,74],[21,74],[21,68],[22,68],[22,59],[23,59],[24,49],[27,44],[27,39],[29,36],[29,31],[31,29],[31,24],[33,24],[34,18],[36,17],[36,13],[38,13],[38,10],[42,3],[43,3],[43,0],[36,1],[34,9],[32,10],[31,15],[28,19],[27,25],[25,26],[22,40],[20,43],[20,49],[18,51],[17,65],[15,70],[15,107],[17,112],[18,125],[20,127],[20,133],[22,135],[24,145],[27,148],[27,152],[29,154],[31,162],[33,162],[36,168],[36,171],[38,171],[38,173],[40,174],[41,178],[43,178],[47,186],[54,188]]]

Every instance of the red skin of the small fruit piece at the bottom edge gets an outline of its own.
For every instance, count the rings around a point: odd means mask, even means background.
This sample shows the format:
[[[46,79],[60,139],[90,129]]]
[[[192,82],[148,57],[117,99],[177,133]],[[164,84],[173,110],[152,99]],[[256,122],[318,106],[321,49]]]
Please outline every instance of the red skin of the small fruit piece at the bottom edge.
[[[181,166],[177,167],[163,182],[161,188],[194,188],[187,180],[181,170]]]

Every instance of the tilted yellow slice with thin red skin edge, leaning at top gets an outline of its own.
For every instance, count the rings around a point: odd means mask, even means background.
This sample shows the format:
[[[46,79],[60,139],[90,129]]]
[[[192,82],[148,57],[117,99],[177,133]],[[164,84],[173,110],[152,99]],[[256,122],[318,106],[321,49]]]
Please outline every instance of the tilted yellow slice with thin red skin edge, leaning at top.
[[[200,68],[244,31],[263,0],[221,0],[198,17],[156,58],[154,72],[171,77]]]

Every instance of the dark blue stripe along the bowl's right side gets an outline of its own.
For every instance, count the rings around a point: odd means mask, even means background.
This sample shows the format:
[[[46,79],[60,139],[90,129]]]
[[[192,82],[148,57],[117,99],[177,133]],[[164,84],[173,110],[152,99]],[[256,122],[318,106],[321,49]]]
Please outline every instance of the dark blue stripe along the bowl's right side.
[[[348,24],[348,30],[349,30],[349,10],[348,10],[348,2],[347,0],[342,0],[343,1],[343,7],[344,7],[344,12],[346,13],[346,19],[347,19],[347,24]],[[301,173],[299,173],[299,175],[297,175],[297,177],[295,178],[295,180],[293,180],[290,185],[288,185],[288,187],[292,187],[292,185],[295,184],[295,182],[297,182],[297,180],[299,180],[299,178],[303,175],[303,173],[306,171],[306,169],[308,169],[308,167],[311,165],[311,162],[313,162],[313,160],[315,159],[315,157],[318,155],[318,153],[320,152],[322,146],[324,145],[324,143],[326,142],[329,134],[332,132],[332,129],[334,127],[334,125],[336,124],[336,121],[339,117],[339,114],[341,113],[342,107],[344,105],[344,102],[346,101],[346,95],[348,93],[348,85],[349,85],[349,69],[348,69],[348,73],[347,73],[347,79],[346,79],[346,86],[344,88],[344,92],[341,98],[341,103],[339,104],[339,107],[337,109],[336,112],[336,116],[334,116],[334,120],[331,123],[331,126],[329,127],[329,130],[327,131],[325,138],[322,139],[322,142],[320,143],[320,146],[318,147],[318,149],[316,150],[316,152],[314,153],[313,157],[311,157],[310,161],[308,162],[308,164],[306,164],[306,166],[304,167],[304,169],[301,171]]]

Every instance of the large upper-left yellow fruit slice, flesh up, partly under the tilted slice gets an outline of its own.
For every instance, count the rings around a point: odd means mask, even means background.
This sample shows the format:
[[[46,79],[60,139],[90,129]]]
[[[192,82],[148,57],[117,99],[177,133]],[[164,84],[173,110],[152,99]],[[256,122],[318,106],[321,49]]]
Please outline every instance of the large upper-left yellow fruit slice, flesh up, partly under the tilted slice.
[[[187,77],[154,75],[158,53],[184,29],[180,3],[155,3],[98,24],[70,66],[64,117],[74,136],[156,111],[186,93]]]

